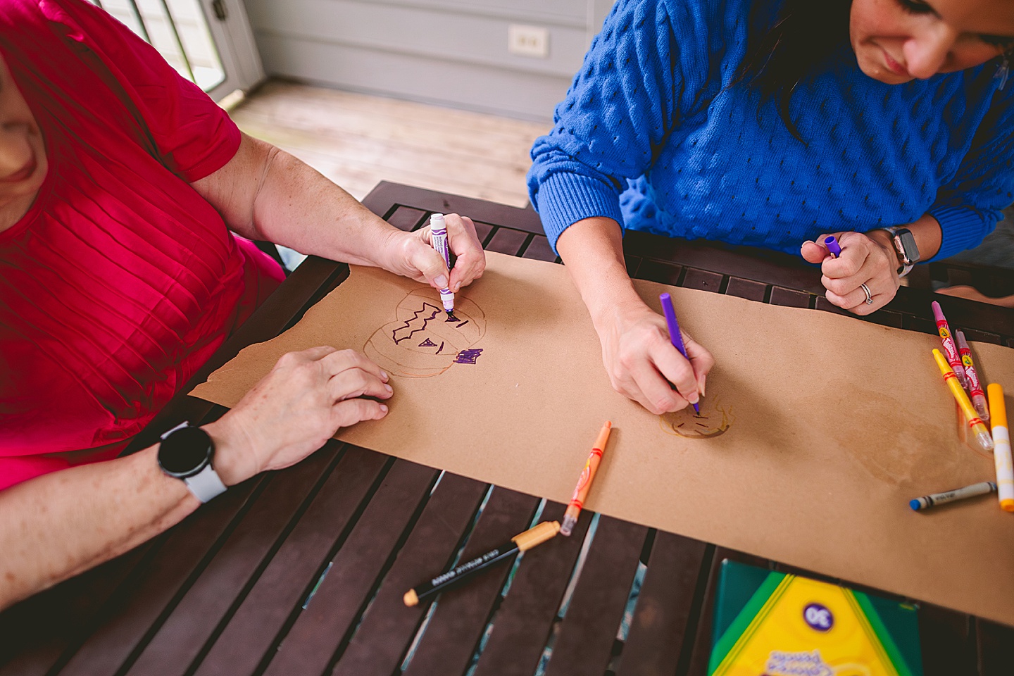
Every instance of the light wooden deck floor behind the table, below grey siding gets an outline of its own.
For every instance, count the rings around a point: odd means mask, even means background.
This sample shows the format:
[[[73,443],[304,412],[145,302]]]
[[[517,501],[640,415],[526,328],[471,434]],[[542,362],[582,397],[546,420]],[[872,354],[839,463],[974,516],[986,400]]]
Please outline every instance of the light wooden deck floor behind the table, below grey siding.
[[[528,151],[548,126],[271,81],[232,110],[247,134],[362,199],[390,180],[514,207],[528,202]]]

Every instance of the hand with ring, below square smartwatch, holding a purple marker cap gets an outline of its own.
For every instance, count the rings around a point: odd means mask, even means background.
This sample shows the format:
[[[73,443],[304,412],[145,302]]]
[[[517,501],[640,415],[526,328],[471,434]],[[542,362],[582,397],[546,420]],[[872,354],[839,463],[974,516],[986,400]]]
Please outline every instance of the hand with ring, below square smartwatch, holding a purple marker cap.
[[[842,255],[835,258],[822,245],[813,241],[803,242],[800,253],[809,262],[819,262],[823,276],[820,282],[827,289],[827,300],[841,308],[859,315],[869,314],[890,302],[897,293],[897,256],[891,248],[889,235],[884,230],[862,232],[835,232],[842,245]],[[822,242],[826,234],[817,238]],[[869,289],[871,303],[866,302]]]

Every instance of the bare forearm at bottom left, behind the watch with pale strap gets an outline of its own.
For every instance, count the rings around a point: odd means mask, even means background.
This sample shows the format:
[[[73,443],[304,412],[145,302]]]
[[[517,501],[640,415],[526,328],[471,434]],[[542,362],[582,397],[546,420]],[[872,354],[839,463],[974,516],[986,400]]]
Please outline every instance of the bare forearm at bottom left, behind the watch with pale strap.
[[[0,609],[113,558],[199,506],[156,447],[0,492]]]

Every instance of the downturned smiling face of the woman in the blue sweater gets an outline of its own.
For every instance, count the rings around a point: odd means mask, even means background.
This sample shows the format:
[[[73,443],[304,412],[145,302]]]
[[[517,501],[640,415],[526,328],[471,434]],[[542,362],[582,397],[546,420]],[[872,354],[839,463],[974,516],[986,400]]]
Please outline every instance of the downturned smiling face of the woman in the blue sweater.
[[[849,39],[870,77],[926,79],[1014,47],[1014,0],[853,0]]]

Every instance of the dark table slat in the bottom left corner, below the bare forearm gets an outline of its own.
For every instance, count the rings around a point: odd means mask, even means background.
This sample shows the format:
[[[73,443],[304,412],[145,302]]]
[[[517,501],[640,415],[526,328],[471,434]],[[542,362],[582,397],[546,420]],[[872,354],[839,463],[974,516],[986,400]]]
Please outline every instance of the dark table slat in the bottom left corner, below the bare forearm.
[[[102,605],[160,543],[149,540],[0,614],[0,676],[49,673],[100,623]]]

